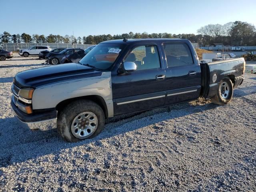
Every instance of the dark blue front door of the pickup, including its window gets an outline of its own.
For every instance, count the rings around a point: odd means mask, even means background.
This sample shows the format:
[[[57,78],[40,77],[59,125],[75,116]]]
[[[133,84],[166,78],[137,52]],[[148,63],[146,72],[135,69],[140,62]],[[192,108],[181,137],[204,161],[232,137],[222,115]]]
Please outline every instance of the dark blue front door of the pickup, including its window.
[[[137,70],[112,72],[114,115],[163,106],[165,71],[155,44],[132,48],[124,62],[134,62]]]

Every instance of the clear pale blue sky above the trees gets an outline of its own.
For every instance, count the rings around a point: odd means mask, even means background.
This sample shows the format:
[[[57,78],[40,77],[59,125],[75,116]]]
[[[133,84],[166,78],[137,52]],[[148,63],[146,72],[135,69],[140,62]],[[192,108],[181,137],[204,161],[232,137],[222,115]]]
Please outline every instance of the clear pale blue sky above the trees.
[[[194,33],[236,20],[256,26],[256,0],[0,0],[0,33],[88,36]]]

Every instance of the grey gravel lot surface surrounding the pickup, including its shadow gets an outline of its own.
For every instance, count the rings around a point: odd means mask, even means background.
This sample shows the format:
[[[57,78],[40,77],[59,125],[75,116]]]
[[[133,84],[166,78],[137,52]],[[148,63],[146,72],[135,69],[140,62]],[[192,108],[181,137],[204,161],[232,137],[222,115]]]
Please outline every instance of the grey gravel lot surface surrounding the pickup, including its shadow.
[[[256,75],[232,102],[196,102],[111,120],[96,138],[66,143],[22,128],[13,76],[42,60],[0,62],[0,191],[256,191]]]

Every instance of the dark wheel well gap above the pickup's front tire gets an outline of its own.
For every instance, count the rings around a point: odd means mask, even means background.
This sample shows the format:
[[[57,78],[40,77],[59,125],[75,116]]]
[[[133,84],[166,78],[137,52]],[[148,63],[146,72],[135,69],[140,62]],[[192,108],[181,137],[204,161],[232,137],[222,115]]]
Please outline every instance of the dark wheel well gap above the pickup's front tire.
[[[102,108],[102,110],[103,110],[103,112],[105,114],[105,118],[108,118],[108,108],[107,108],[107,105],[106,105],[104,99],[101,96],[98,96],[98,95],[82,96],[82,97],[76,97],[76,98],[70,98],[70,99],[64,100],[64,101],[62,101],[62,102],[57,104],[56,110],[57,111],[61,111],[70,102],[73,102],[75,100],[80,100],[80,99],[87,99],[87,100],[91,100],[91,101],[96,102]],[[58,114],[60,114],[60,113],[58,112]]]

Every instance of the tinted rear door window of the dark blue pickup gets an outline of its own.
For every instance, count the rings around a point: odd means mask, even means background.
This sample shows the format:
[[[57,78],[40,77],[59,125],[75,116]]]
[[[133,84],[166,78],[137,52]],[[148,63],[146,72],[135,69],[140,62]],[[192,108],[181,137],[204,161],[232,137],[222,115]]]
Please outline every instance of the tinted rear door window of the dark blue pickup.
[[[190,49],[186,43],[165,43],[164,52],[168,67],[194,64]]]

